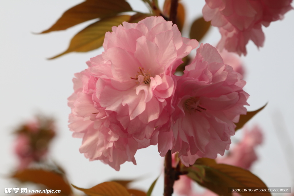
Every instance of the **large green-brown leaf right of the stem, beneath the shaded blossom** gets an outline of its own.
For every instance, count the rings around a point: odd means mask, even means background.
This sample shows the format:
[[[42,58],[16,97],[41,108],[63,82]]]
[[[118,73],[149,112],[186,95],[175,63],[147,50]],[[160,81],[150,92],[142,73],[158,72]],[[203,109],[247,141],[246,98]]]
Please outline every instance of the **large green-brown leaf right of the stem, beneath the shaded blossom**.
[[[231,196],[232,193],[228,193],[228,187],[266,188],[264,182],[250,171],[232,165],[217,164],[213,159],[198,159],[193,166],[184,168],[184,170],[189,172],[188,177],[218,195]],[[197,175],[194,178],[193,176],[195,176],[195,174]],[[269,192],[239,192],[239,194],[243,196],[270,195]]]

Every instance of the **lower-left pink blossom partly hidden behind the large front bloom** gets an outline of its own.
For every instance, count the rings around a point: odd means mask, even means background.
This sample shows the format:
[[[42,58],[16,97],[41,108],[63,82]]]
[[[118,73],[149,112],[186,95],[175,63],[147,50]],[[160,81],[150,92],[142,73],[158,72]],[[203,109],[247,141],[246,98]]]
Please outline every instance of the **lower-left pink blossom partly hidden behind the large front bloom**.
[[[90,161],[101,160],[116,170],[126,161],[136,164],[137,149],[147,147],[149,141],[128,136],[115,112],[106,113],[99,105],[95,97],[98,78],[91,76],[89,70],[75,74],[75,92],[68,99],[72,108],[69,128],[74,131],[73,137],[83,138],[80,152]]]

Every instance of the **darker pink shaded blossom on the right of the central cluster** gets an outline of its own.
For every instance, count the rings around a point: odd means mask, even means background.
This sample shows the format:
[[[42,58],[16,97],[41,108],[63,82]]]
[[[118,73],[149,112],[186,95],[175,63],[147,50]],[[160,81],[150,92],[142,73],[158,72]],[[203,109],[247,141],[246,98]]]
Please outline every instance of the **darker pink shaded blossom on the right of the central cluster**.
[[[158,128],[159,152],[179,152],[186,166],[199,157],[223,155],[235,134],[234,123],[246,114],[249,95],[242,89],[242,76],[223,63],[216,48],[201,44],[184,75],[175,78],[174,112],[172,121]]]

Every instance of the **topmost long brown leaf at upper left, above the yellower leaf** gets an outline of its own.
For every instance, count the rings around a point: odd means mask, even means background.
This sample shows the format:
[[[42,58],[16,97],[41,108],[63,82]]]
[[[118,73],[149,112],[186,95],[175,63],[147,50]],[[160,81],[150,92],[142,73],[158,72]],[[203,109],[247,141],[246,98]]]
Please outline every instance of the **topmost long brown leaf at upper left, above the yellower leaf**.
[[[125,0],[86,0],[64,12],[53,26],[41,33],[65,30],[88,20],[114,16],[126,11],[132,11],[132,8]]]

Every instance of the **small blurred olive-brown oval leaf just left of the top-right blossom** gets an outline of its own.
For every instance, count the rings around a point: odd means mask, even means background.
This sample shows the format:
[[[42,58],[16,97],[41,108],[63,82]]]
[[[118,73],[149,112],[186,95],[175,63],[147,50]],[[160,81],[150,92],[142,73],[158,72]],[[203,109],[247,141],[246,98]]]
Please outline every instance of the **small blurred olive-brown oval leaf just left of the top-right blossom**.
[[[190,38],[200,41],[210,28],[210,22],[206,22],[203,17],[196,19],[190,29]]]

